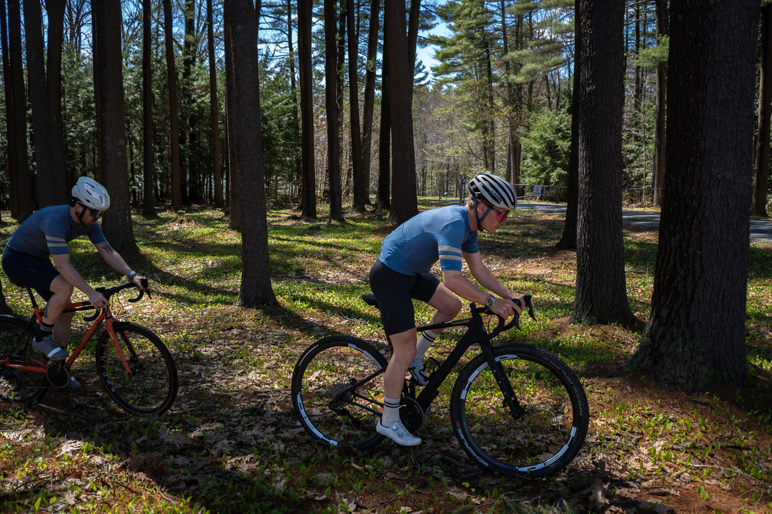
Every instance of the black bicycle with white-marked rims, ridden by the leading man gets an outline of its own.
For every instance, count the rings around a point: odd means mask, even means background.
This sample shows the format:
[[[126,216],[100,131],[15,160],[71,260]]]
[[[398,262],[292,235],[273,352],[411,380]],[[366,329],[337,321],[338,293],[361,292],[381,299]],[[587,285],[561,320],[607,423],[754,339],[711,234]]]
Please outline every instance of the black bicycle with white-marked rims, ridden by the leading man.
[[[362,297],[378,307],[372,294]],[[526,297],[529,314],[533,304]],[[479,344],[480,354],[464,366],[450,396],[450,420],[461,447],[474,462],[508,476],[537,478],[568,465],[579,452],[590,415],[587,395],[571,368],[549,351],[530,344],[494,346],[491,340],[512,327],[499,317],[492,330],[487,307],[470,305],[472,316],[419,327],[467,327],[442,363],[432,361],[428,384],[416,395],[405,381],[400,418],[417,432],[425,412],[462,355]],[[373,448],[384,440],[375,431],[383,408],[387,358],[367,341],[333,335],[310,345],[295,365],[292,400],[304,428],[328,445]]]

